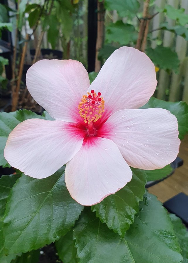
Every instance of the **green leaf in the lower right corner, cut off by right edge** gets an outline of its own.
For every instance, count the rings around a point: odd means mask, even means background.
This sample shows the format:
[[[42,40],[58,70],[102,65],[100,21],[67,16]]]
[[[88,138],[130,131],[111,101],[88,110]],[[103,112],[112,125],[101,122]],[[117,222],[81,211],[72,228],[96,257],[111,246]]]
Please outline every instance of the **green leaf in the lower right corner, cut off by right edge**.
[[[183,263],[188,263],[188,231],[187,228],[182,223],[179,217],[175,214],[169,214],[172,224],[174,226],[174,231],[177,239],[180,243],[180,248],[182,249]]]

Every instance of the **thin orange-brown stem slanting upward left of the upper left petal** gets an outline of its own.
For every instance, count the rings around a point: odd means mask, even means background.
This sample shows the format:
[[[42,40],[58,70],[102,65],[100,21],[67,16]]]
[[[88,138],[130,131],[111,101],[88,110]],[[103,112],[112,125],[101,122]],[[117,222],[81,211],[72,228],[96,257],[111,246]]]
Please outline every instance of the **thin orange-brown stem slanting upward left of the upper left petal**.
[[[26,38],[25,38],[25,44],[24,44],[23,50],[22,50],[16,89],[12,94],[12,111],[15,111],[17,109],[17,105],[18,105],[21,77],[22,77],[22,73],[23,73],[23,65],[24,65],[24,60],[25,60],[25,54],[27,51],[28,39],[29,39],[29,35],[27,34]]]

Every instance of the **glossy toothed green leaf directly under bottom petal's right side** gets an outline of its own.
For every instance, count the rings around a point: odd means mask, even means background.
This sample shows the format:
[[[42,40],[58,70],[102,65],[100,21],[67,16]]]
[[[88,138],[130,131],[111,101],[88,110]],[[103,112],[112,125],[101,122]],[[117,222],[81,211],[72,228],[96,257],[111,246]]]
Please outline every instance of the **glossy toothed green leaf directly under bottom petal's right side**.
[[[135,214],[139,211],[139,202],[143,200],[146,191],[145,172],[134,168],[132,172],[133,177],[126,186],[91,207],[102,223],[106,223],[109,229],[122,237],[130,224],[133,224]]]

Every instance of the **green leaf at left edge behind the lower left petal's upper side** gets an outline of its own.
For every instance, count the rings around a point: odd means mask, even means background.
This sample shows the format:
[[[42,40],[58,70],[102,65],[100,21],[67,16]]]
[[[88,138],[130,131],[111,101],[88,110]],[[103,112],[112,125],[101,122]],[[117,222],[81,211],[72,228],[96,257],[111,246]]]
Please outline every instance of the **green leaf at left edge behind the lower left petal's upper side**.
[[[17,110],[15,112],[0,113],[0,165],[9,166],[4,158],[4,148],[9,133],[20,123],[27,119],[45,119],[45,116],[37,115],[30,110]]]

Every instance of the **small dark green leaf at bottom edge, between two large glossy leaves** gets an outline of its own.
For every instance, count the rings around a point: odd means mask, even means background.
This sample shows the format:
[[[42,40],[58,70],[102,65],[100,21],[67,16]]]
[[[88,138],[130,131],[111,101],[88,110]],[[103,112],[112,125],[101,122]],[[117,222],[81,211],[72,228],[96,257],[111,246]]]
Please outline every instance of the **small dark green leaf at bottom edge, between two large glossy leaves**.
[[[73,240],[72,230],[55,242],[58,256],[64,263],[78,263],[76,258],[77,249],[74,245],[75,240]]]

